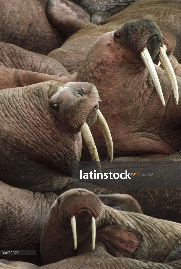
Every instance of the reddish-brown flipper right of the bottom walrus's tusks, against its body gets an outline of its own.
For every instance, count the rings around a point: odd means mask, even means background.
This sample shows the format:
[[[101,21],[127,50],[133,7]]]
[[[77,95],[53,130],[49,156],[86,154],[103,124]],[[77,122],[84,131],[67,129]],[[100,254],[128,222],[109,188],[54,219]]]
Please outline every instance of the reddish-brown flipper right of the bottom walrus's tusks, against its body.
[[[102,243],[113,257],[133,258],[142,234],[124,225],[105,225],[96,230],[96,241]]]

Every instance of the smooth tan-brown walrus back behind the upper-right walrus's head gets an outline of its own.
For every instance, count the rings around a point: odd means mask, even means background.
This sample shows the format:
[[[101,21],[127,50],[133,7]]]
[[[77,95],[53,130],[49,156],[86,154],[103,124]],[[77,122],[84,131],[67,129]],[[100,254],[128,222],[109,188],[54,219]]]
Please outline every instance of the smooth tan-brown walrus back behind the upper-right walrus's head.
[[[181,63],[181,8],[179,0],[139,0],[106,21],[76,32],[61,48],[51,51],[48,56],[58,60],[68,72],[73,74],[78,71],[85,54],[101,35],[115,31],[126,21],[138,18],[151,19],[160,29],[174,34],[177,44],[174,56]]]

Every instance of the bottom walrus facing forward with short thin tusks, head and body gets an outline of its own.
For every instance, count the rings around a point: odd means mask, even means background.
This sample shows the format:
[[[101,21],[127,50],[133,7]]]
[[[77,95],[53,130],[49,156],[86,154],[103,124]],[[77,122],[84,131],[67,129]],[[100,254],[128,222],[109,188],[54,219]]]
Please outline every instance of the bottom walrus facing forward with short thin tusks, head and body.
[[[79,247],[92,231],[93,251],[95,244],[99,242],[114,257],[134,257],[143,262],[162,263],[170,251],[181,245],[180,228],[179,223],[110,208],[86,189],[71,189],[56,199],[46,217],[40,238],[41,258],[43,264],[63,260],[62,267],[58,263],[52,264],[52,267],[49,265],[48,268],[64,268],[65,259],[79,255],[76,249],[79,251]],[[81,257],[87,248],[82,251],[81,256],[77,257],[80,259],[80,266]],[[69,261],[71,264],[72,259]],[[82,266],[88,268],[83,264]]]

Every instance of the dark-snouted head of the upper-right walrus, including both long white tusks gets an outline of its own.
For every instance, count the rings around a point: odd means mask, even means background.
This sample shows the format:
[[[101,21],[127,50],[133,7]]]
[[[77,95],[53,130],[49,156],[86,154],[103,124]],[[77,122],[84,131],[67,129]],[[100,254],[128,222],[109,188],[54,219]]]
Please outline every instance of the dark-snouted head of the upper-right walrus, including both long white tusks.
[[[153,64],[153,60],[158,57],[168,75],[176,104],[178,104],[179,93],[175,73],[165,53],[167,48],[156,23],[149,19],[127,21],[114,31],[113,38],[118,48],[125,49],[123,58],[127,63],[140,63],[142,59],[155,84],[160,100],[165,106],[163,92]]]

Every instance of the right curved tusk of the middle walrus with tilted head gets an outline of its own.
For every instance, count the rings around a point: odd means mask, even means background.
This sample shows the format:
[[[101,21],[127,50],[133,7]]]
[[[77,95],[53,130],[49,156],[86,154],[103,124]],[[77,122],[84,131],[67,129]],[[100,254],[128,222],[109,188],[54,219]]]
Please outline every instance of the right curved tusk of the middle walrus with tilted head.
[[[103,132],[104,139],[106,141],[106,147],[107,147],[107,161],[109,164],[111,164],[113,160],[113,140],[111,137],[111,133],[109,130],[109,127],[106,123],[106,120],[103,117],[103,114],[100,112],[100,110],[97,110],[98,117],[97,117],[97,123],[100,126],[101,131]]]

